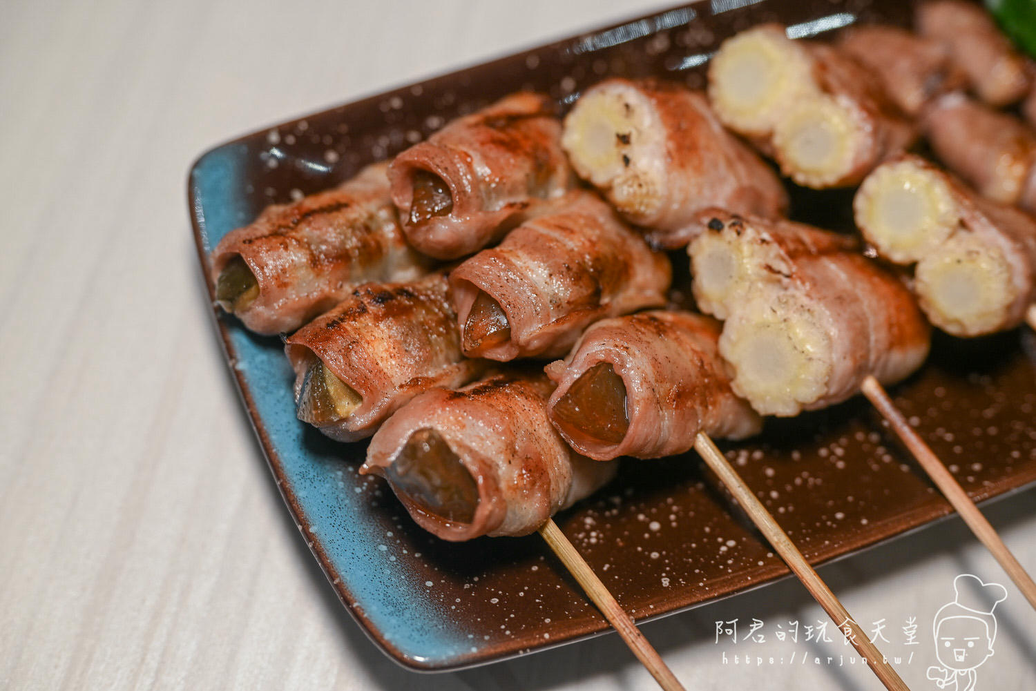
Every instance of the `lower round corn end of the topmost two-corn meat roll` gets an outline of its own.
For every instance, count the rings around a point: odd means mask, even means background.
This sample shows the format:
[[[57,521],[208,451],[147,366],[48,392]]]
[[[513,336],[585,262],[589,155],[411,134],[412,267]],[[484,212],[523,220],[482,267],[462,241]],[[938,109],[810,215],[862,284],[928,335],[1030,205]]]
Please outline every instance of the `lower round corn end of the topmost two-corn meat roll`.
[[[774,151],[781,170],[799,184],[831,186],[851,174],[863,132],[853,111],[834,98],[802,98],[777,122]]]

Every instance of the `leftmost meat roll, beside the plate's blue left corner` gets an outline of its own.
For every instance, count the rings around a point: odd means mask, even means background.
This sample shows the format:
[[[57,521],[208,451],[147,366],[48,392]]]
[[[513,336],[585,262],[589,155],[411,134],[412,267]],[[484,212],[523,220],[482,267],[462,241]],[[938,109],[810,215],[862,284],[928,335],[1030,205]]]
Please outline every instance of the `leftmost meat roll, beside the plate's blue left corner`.
[[[400,231],[387,164],[341,186],[267,207],[212,250],[215,299],[259,334],[291,332],[368,281],[428,272]]]

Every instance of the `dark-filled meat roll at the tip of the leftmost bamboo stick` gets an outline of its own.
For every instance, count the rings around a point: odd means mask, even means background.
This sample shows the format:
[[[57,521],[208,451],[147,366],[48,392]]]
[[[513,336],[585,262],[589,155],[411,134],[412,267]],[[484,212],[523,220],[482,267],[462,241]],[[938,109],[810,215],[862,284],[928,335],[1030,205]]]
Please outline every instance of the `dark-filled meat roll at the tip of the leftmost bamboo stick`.
[[[359,471],[385,478],[443,540],[528,535],[617,469],[562,440],[547,419],[552,390],[543,373],[513,372],[425,392],[378,430]]]

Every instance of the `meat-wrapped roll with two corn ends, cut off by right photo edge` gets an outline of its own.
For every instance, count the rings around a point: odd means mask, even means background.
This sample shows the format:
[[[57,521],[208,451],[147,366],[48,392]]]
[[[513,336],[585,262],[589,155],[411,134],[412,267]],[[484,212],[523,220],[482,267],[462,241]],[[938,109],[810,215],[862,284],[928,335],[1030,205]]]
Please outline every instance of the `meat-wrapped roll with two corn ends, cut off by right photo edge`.
[[[880,254],[917,262],[921,309],[943,330],[969,337],[1013,328],[1036,301],[1036,220],[983,199],[923,159],[880,166],[853,206]]]

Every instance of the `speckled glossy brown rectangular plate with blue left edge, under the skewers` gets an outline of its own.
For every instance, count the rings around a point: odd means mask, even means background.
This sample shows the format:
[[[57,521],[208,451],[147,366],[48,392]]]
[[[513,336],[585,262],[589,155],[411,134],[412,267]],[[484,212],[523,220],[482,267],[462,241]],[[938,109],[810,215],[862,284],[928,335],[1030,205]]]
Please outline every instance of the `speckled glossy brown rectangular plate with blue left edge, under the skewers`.
[[[857,21],[902,24],[909,13],[899,0],[713,0],[248,135],[208,151],[191,171],[204,273],[209,249],[267,204],[329,188],[511,91],[546,91],[564,107],[607,76],[701,87],[718,41],[753,24],[780,21],[809,36]],[[844,193],[794,191],[794,200],[796,218],[847,223]],[[392,657],[416,669],[455,669],[607,628],[539,537],[451,544],[416,527],[385,485],[357,476],[366,443],[335,443],[295,419],[280,341],[213,314],[288,509],[343,604]],[[925,368],[892,393],[963,486],[984,499],[1036,480],[1034,372],[1031,332],[937,339]],[[950,512],[862,400],[771,421],[761,437],[726,453],[813,563]],[[637,618],[787,573],[692,454],[626,462],[618,480],[558,523]]]

